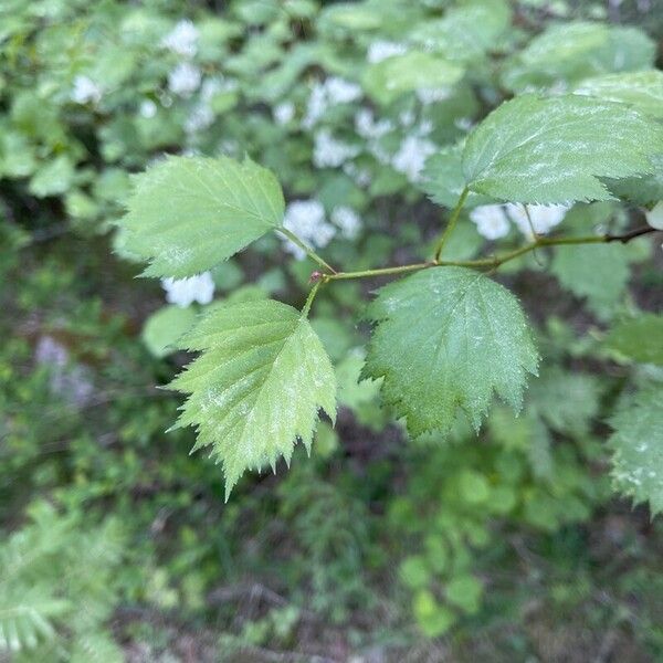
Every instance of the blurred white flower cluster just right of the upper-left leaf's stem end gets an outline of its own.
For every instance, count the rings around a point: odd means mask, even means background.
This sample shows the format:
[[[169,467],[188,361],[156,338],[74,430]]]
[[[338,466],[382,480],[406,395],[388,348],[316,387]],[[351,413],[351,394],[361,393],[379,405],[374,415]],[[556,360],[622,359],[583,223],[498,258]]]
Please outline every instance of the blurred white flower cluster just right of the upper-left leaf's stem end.
[[[325,208],[319,200],[294,200],[285,208],[283,225],[296,234],[305,243],[314,248],[326,246],[337,232],[352,240],[361,228],[361,219],[349,207],[339,206],[332,210],[332,223],[327,221]],[[284,249],[297,260],[306,256],[306,252],[284,238]]]

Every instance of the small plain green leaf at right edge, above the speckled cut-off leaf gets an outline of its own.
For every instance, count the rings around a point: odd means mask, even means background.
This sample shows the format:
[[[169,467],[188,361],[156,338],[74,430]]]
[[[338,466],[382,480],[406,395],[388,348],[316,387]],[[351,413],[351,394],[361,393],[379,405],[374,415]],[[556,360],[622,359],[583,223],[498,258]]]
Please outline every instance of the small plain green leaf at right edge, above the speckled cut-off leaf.
[[[663,315],[643,314],[619,323],[606,345],[633,361],[663,365]]]

